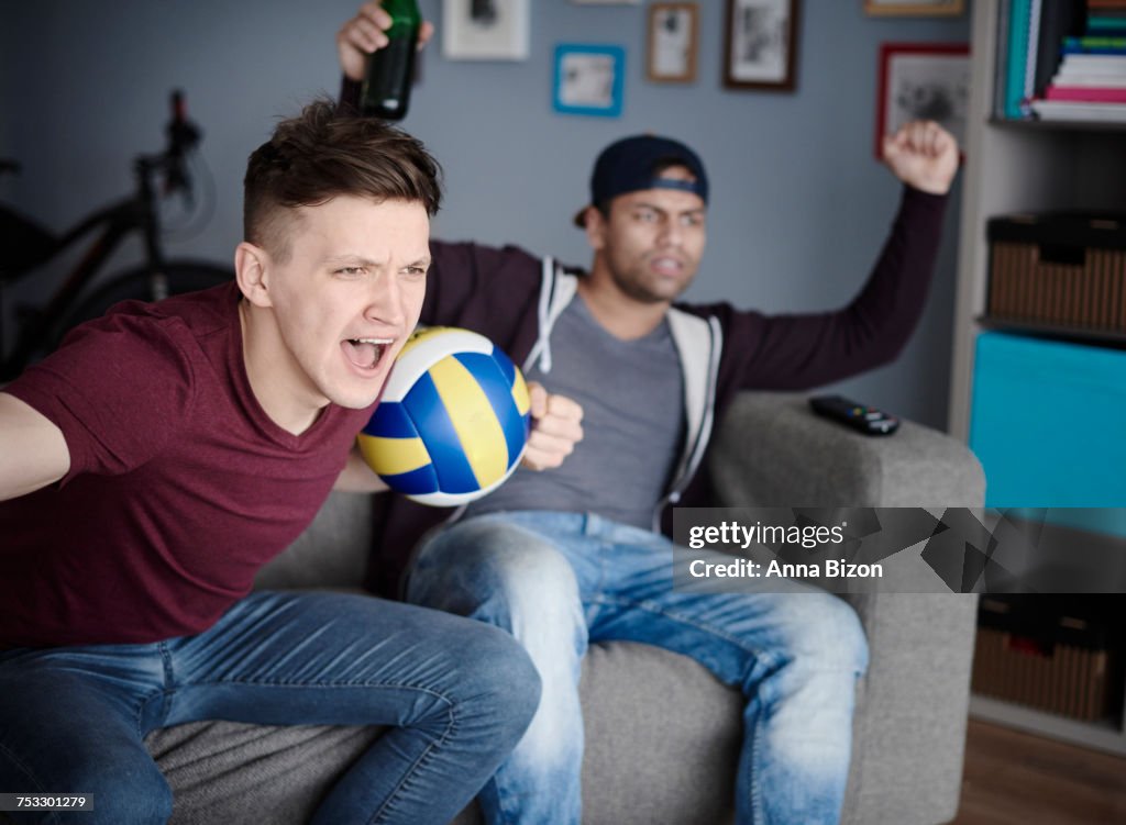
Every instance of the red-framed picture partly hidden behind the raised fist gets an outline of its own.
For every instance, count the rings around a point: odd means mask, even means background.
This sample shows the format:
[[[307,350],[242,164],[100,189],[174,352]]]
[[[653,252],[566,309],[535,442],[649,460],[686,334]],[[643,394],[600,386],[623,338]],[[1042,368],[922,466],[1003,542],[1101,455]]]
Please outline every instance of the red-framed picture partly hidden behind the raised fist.
[[[969,46],[965,43],[885,43],[879,47],[875,152],[884,135],[909,120],[935,120],[965,145]]]

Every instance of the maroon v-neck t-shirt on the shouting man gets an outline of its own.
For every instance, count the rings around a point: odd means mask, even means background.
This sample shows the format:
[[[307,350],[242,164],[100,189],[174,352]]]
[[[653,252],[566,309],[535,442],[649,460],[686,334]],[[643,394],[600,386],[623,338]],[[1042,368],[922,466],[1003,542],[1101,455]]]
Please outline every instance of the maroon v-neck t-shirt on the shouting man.
[[[275,424],[238,302],[230,284],[124,304],[5,388],[62,430],[71,468],[0,502],[0,645],[199,633],[312,520],[374,405]]]

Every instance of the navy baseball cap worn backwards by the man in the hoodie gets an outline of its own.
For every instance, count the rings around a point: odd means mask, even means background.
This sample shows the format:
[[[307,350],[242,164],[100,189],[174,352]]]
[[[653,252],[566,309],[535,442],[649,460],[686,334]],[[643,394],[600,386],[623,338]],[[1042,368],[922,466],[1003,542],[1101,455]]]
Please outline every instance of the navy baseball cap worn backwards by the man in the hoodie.
[[[659,170],[685,167],[696,180],[660,178]],[[590,205],[608,204],[618,195],[643,189],[680,189],[696,192],[707,203],[707,173],[697,154],[679,141],[653,135],[624,137],[602,150],[590,176]],[[587,207],[574,216],[586,225]]]

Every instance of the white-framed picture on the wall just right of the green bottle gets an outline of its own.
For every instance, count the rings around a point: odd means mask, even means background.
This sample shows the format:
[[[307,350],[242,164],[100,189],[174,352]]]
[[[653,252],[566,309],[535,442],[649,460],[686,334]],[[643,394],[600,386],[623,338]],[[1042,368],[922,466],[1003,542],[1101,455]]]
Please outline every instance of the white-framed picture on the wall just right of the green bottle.
[[[531,0],[443,0],[446,60],[527,60]]]

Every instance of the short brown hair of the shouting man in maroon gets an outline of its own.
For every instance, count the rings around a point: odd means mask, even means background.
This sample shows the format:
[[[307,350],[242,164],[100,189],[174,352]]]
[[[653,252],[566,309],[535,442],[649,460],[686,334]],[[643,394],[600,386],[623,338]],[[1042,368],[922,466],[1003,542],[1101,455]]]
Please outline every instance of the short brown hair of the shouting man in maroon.
[[[340,115],[331,100],[315,100],[282,120],[250,155],[243,237],[285,260],[286,210],[338,195],[421,203],[432,216],[441,201],[440,174],[438,162],[405,132],[375,118]]]

